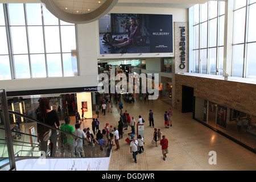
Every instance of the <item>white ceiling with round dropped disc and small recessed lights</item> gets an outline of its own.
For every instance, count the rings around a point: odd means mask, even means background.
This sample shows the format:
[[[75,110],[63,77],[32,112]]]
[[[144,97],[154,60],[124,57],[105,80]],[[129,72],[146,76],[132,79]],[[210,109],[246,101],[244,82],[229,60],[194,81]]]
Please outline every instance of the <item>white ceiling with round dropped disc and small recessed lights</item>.
[[[188,9],[209,0],[2,0],[1,3],[44,3],[56,17],[70,23],[89,23],[114,6]],[[223,1],[223,0],[222,0]]]

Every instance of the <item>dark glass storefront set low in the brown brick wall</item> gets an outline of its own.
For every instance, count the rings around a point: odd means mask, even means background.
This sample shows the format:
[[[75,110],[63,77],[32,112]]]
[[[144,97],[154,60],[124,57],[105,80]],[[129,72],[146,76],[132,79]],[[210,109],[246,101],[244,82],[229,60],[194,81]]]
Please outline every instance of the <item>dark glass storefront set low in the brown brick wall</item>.
[[[256,116],[195,97],[194,119],[226,137],[256,148]]]

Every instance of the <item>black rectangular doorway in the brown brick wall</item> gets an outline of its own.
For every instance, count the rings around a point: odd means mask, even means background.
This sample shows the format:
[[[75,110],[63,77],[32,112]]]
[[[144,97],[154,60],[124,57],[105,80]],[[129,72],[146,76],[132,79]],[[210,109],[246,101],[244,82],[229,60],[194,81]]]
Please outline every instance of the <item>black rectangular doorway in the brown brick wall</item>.
[[[182,113],[193,111],[194,88],[182,85]]]

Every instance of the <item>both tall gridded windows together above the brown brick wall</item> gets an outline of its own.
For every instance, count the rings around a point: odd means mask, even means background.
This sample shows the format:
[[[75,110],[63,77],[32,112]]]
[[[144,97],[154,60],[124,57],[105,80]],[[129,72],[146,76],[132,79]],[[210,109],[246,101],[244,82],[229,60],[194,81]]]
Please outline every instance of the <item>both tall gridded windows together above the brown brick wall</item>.
[[[233,4],[233,17],[226,18],[233,21],[232,55],[228,55],[224,63],[224,34],[225,34],[225,1],[209,1],[202,5],[195,5],[192,10],[193,27],[193,72],[211,75],[216,68],[230,70],[230,76],[256,78],[256,1],[255,0],[228,0]],[[228,30],[227,28],[227,30]],[[228,36],[227,35],[227,39]],[[229,62],[229,60],[232,60]]]

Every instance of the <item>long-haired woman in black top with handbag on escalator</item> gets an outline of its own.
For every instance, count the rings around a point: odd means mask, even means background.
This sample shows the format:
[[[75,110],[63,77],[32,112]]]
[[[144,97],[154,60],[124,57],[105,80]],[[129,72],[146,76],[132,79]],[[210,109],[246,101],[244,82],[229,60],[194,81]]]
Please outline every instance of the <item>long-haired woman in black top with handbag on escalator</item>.
[[[49,126],[57,127],[59,129],[60,122],[55,110],[51,110],[49,106],[48,98],[42,98],[39,102],[39,113],[37,115],[38,121],[45,123]],[[41,125],[38,123],[38,142],[40,143],[40,151],[47,152],[48,139],[44,139],[44,134],[50,130],[49,127]],[[57,132],[56,130],[51,130],[49,140],[51,140],[51,157],[56,154],[56,143],[57,143]]]

